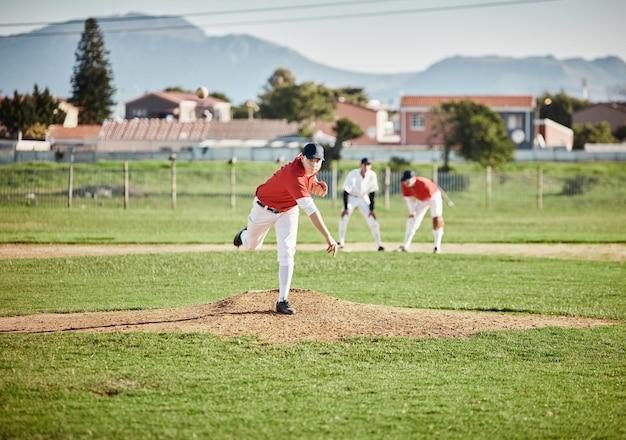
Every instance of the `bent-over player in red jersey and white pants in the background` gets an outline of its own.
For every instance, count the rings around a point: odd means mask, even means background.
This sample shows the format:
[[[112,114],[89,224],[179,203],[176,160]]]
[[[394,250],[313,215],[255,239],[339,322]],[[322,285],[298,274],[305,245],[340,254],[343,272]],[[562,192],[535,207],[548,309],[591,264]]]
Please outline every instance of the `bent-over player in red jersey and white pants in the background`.
[[[409,219],[406,222],[404,243],[398,250],[403,252],[409,250],[413,236],[419,229],[426,211],[430,208],[435,239],[433,253],[438,254],[441,252],[441,239],[443,238],[443,201],[439,187],[432,180],[415,176],[415,173],[410,170],[402,174],[400,186],[406,206],[409,208]]]

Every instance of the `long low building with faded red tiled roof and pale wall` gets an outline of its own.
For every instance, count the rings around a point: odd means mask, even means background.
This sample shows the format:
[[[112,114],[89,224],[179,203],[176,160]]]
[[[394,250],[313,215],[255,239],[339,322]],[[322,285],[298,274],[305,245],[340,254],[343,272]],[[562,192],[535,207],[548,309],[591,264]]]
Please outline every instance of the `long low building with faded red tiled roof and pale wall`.
[[[155,152],[202,147],[262,147],[297,137],[298,124],[274,119],[234,119],[229,122],[181,122],[167,119],[105,121],[98,151]]]

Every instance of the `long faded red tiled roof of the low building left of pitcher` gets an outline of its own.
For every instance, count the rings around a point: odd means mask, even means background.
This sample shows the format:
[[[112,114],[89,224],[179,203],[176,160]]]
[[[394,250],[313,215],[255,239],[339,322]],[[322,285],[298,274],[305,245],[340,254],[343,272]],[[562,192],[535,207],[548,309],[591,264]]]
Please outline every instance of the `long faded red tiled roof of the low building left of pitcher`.
[[[105,121],[100,139],[106,141],[203,141],[206,139],[273,140],[297,134],[298,124],[274,119],[235,119],[229,122],[179,122],[166,119]]]

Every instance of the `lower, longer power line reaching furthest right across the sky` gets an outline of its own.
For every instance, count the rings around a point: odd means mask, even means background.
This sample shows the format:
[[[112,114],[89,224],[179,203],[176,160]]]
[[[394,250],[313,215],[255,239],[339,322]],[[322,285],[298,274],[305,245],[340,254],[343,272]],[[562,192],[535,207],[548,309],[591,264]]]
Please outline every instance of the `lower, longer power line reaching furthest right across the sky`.
[[[126,28],[126,29],[107,29],[103,30],[106,34],[115,33],[130,33],[130,32],[160,32],[160,31],[172,31],[172,30],[188,30],[188,29],[207,29],[215,27],[225,26],[250,26],[261,24],[276,24],[276,23],[296,23],[303,21],[317,21],[317,20],[338,20],[338,19],[350,19],[350,18],[366,18],[366,17],[380,17],[391,16],[401,14],[420,14],[430,12],[444,12],[444,11],[458,11],[468,9],[485,9],[493,7],[504,6],[519,6],[536,3],[552,3],[562,0],[512,0],[512,1],[499,1],[499,2],[487,2],[487,3],[471,3],[466,5],[454,5],[454,6],[435,6],[430,8],[417,8],[417,9],[402,9],[395,11],[378,11],[378,12],[363,12],[363,13],[351,13],[351,14],[339,14],[339,15],[318,15],[313,17],[293,17],[293,18],[276,18],[276,19],[264,19],[264,20],[250,20],[250,21],[236,21],[236,22],[223,22],[223,23],[208,23],[208,24],[185,24],[185,25],[172,25],[172,26],[159,26],[159,27],[144,27],[144,28]],[[13,36],[5,36],[0,38],[29,38],[29,37],[52,37],[61,35],[74,35],[82,32],[77,31],[56,31],[56,32],[38,32],[31,34],[20,34]]]

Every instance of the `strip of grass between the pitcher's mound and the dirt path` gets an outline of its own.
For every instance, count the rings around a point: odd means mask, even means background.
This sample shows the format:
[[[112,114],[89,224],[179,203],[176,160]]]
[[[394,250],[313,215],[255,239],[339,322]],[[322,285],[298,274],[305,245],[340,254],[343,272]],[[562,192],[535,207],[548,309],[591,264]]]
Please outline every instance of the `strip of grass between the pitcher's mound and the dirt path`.
[[[276,265],[272,251],[0,260],[0,315],[213,302],[276,288]],[[612,262],[299,252],[293,287],[400,307],[626,319],[626,267]]]

